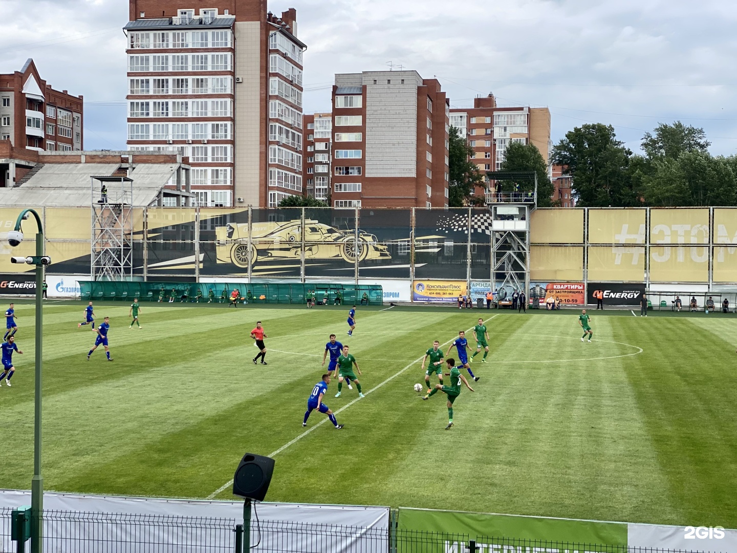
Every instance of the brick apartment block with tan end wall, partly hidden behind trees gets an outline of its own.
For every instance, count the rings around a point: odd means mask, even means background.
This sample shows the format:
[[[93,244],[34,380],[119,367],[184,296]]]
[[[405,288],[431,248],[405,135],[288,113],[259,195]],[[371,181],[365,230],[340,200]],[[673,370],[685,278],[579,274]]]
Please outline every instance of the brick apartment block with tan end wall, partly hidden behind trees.
[[[501,169],[506,148],[513,142],[534,144],[548,163],[551,114],[548,108],[500,108],[494,94],[474,98],[473,108],[450,110],[450,125],[467,136],[481,172]],[[485,177],[486,184],[489,178]],[[483,189],[476,190],[483,194]]]

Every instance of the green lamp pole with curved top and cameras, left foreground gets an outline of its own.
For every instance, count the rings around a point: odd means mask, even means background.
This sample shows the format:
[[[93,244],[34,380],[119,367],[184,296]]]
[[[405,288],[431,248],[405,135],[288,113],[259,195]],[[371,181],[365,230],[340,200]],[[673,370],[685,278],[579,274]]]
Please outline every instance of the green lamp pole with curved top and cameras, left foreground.
[[[33,422],[33,479],[31,481],[31,552],[43,552],[43,478],[41,477],[41,366],[43,360],[43,267],[51,259],[43,255],[43,226],[33,209],[25,209],[15,221],[15,230],[8,233],[10,246],[18,246],[23,240],[21,223],[32,213],[38,224],[35,257],[13,257],[13,263],[28,263],[36,267],[36,367],[35,367],[35,416]]]

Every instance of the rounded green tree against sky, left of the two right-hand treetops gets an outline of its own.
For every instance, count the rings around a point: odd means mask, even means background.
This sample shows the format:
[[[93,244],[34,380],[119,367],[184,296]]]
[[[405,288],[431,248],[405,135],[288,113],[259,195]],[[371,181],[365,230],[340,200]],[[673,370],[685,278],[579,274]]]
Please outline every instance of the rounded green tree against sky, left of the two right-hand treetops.
[[[642,205],[632,187],[631,156],[614,128],[601,123],[573,128],[553,148],[553,163],[567,167],[576,205],[581,207]]]

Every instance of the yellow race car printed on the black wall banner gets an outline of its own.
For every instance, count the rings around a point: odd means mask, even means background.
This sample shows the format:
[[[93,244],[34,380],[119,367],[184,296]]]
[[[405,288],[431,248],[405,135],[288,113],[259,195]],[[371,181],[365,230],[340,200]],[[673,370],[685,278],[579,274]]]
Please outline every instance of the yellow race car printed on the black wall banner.
[[[252,223],[251,266],[269,260],[300,260],[301,220],[279,223]],[[232,263],[248,268],[248,223],[220,226],[215,229],[215,250],[218,263]],[[304,221],[305,260],[339,258],[348,263],[391,259],[388,249],[377,243],[373,234],[359,230],[339,230],[334,226]]]

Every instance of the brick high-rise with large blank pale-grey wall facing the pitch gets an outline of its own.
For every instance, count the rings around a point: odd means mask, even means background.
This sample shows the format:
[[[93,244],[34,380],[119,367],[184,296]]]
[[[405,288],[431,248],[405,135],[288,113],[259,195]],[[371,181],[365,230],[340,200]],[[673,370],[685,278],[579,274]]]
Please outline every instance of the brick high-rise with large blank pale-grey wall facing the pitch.
[[[332,206],[447,206],[450,104],[437,80],[336,74],[332,107]]]

